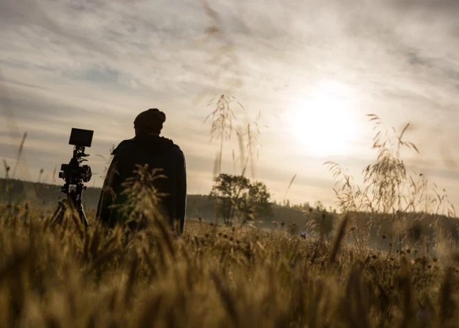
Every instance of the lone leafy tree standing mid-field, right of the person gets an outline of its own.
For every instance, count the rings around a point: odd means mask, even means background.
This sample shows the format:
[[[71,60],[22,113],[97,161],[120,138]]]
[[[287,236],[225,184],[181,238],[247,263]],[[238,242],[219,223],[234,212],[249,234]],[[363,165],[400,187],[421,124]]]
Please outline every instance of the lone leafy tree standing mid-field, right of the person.
[[[215,179],[209,198],[220,200],[217,216],[223,223],[232,226],[234,221],[241,225],[255,217],[272,217],[271,194],[264,182],[251,182],[243,175],[222,173]]]

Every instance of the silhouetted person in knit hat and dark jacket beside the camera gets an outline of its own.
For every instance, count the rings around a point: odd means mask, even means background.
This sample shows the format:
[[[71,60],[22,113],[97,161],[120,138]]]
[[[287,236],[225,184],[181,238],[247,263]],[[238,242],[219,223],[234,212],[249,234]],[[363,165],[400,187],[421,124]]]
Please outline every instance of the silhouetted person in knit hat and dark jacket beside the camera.
[[[134,173],[138,169],[136,165],[147,164],[150,171],[162,169],[159,174],[166,175],[167,178],[155,180],[154,187],[159,192],[167,194],[161,201],[163,217],[171,226],[177,220],[180,233],[183,233],[186,210],[185,157],[179,146],[172,140],[159,136],[165,121],[166,114],[158,109],[143,111],[134,120],[136,131],[134,139],[122,141],[113,150],[113,159],[97,206],[97,219],[106,226],[124,224],[126,218],[118,209],[119,205],[124,205],[127,201],[127,195],[122,194],[124,191],[122,184],[136,175]],[[136,225],[129,224],[129,227],[136,228]]]

